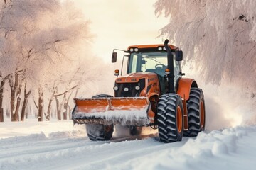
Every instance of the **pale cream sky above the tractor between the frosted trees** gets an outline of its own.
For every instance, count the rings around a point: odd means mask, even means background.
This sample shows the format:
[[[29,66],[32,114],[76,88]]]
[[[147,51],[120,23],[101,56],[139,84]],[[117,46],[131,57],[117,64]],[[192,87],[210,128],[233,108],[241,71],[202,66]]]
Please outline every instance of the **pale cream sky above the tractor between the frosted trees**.
[[[112,50],[127,50],[129,45],[164,43],[156,38],[169,19],[157,18],[153,4],[156,0],[74,0],[90,20],[91,32],[96,35],[93,52],[110,62]]]

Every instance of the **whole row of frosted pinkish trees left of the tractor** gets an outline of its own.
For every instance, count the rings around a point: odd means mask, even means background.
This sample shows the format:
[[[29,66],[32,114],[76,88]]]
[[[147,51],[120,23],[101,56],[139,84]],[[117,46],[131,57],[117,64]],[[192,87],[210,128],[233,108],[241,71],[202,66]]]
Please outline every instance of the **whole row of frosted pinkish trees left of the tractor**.
[[[5,114],[24,120],[31,109],[39,121],[49,120],[53,108],[58,120],[67,117],[73,97],[90,79],[89,25],[70,2],[0,1],[1,121]]]

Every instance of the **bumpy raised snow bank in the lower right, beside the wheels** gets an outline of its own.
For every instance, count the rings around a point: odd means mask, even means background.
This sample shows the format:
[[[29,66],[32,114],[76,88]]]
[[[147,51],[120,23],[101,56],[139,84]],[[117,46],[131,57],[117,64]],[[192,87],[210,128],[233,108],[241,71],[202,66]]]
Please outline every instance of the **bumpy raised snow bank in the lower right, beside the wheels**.
[[[255,169],[256,127],[201,132],[184,145],[127,162],[124,169]],[[253,152],[251,152],[253,151]]]

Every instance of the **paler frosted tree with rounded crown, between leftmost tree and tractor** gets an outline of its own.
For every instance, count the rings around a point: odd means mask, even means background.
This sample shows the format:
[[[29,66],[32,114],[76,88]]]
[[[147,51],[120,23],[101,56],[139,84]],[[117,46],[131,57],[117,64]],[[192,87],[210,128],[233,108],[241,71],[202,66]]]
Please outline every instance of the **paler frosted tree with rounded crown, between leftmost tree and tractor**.
[[[54,45],[46,54],[50,57],[50,60],[43,60],[43,65],[38,65],[41,69],[37,69],[37,74],[33,72],[38,84],[38,97],[46,98],[46,102],[41,102],[41,104],[48,103],[46,111],[43,111],[45,106],[38,103],[39,118],[43,118],[43,114],[46,115],[47,119],[50,118],[53,95],[59,91],[70,89],[70,86],[75,86],[73,85],[75,80],[65,75],[75,74],[79,65],[86,58],[83,59],[81,54],[78,53],[79,48],[88,50],[90,47],[88,41],[92,38],[89,33],[89,23],[85,21],[82,13],[73,4],[63,2],[60,7],[54,13],[48,11],[44,15],[48,17],[41,21]],[[48,42],[47,39],[45,40]],[[87,54],[90,54],[90,52],[87,51]],[[41,70],[44,70],[44,72],[41,72]],[[50,91],[47,90],[48,88],[50,88]],[[60,97],[63,96],[65,96],[64,93]],[[56,102],[58,103],[58,100]],[[60,113],[63,105],[56,104],[56,106],[58,106],[57,111]]]

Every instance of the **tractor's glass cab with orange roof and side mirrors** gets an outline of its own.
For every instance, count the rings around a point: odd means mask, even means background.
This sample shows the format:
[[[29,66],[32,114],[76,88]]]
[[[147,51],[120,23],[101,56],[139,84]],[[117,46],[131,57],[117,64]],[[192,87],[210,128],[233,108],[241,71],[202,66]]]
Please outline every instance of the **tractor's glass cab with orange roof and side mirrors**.
[[[182,52],[173,45],[169,45],[169,47],[173,55],[172,66],[168,66],[168,54],[163,45],[136,45],[128,47],[127,51],[125,51],[129,52],[129,55],[124,56],[128,57],[128,62],[127,66],[122,65],[122,68],[127,67],[127,74],[138,72],[157,74],[161,94],[166,94],[169,91],[167,74],[171,74],[172,70],[174,70],[174,88],[176,91],[177,81],[182,76],[180,62],[182,60]],[[116,61],[115,57],[117,57],[116,52],[113,52],[112,62]],[[125,62],[122,63],[124,64]]]

